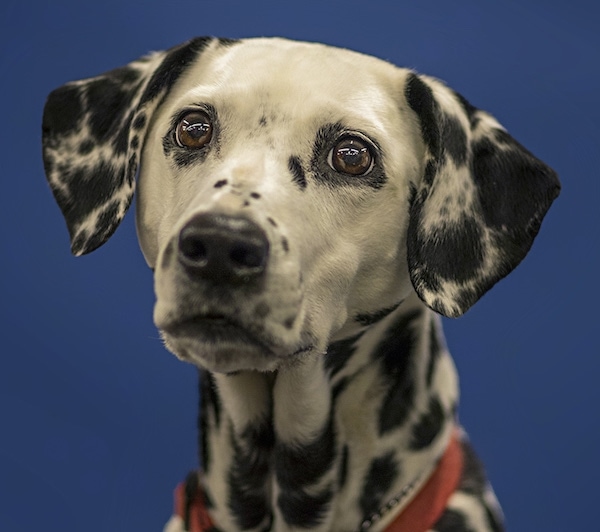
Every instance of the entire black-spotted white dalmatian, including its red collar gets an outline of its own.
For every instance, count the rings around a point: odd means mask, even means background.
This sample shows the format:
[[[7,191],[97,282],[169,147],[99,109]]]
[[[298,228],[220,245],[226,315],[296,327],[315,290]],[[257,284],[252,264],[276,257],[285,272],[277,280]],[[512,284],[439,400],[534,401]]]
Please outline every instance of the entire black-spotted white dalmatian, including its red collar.
[[[154,321],[199,368],[165,530],[503,530],[439,315],[519,264],[560,185],[491,115],[348,50],[197,38],[52,92],[43,155],[75,255],[137,181]]]

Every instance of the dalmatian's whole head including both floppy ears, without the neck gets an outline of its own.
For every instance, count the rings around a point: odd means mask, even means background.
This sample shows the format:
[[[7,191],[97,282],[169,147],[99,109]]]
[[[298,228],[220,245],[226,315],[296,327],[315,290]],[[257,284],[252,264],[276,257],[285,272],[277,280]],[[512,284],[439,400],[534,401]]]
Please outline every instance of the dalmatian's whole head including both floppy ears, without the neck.
[[[347,50],[195,39],[51,94],[75,253],[131,201],[155,323],[213,371],[274,370],[416,292],[457,316],[525,256],[555,174],[440,82]]]

